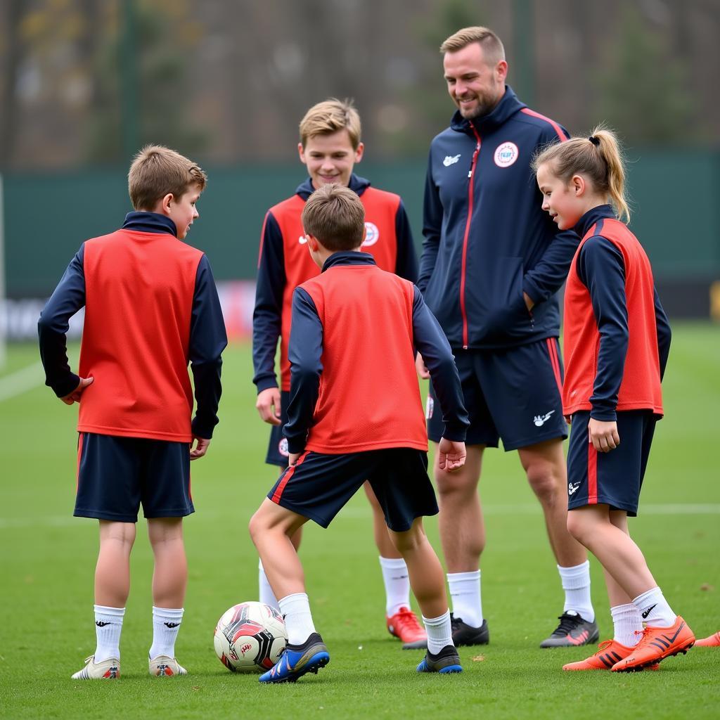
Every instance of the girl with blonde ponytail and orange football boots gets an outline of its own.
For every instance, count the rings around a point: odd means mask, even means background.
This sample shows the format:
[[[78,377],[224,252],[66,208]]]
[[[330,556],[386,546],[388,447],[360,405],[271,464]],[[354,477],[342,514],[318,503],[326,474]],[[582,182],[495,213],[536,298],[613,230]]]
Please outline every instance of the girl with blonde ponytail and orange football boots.
[[[627,228],[625,169],[615,134],[551,145],[534,159],[543,210],[580,235],[564,300],[563,413],[570,534],[605,570],[614,636],[563,670],[657,668],[695,636],[675,615],[628,532],[637,514],[655,423],[670,325],[649,260]],[[625,222],[624,222],[625,221]]]

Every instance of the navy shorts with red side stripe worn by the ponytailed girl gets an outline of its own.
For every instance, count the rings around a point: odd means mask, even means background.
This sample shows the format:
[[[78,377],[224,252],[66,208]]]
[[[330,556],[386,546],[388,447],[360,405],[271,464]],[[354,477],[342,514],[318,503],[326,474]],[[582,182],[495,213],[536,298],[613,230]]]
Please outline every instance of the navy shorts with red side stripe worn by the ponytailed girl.
[[[598,452],[588,440],[590,412],[572,415],[567,450],[567,509],[610,505],[637,515],[642,479],[652,444],[657,415],[650,410],[617,413],[620,444]]]

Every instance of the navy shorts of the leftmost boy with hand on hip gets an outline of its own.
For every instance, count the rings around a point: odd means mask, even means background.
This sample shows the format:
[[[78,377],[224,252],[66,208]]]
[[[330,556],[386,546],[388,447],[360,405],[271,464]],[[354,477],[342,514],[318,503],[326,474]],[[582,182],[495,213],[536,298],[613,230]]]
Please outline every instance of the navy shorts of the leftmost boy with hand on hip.
[[[78,433],[79,518],[121,523],[181,518],[194,513],[190,495],[190,446],[148,438]]]

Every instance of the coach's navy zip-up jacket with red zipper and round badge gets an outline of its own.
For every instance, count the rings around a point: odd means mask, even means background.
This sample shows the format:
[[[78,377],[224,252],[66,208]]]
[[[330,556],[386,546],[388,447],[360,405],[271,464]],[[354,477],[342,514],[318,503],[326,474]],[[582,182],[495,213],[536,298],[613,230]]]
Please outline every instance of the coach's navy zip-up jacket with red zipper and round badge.
[[[473,120],[456,112],[432,141],[418,287],[453,348],[559,335],[555,293],[579,238],[558,233],[542,211],[530,163],[538,148],[566,139],[506,86],[492,112]]]

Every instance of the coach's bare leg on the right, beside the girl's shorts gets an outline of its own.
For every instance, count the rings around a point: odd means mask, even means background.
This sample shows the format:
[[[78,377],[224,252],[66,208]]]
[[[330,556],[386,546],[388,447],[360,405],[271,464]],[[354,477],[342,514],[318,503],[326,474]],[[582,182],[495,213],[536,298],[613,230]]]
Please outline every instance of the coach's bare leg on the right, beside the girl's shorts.
[[[575,567],[588,559],[585,548],[567,531],[567,468],[562,439],[518,449],[528,482],[545,515],[552,552],[560,567]]]

